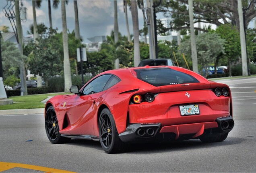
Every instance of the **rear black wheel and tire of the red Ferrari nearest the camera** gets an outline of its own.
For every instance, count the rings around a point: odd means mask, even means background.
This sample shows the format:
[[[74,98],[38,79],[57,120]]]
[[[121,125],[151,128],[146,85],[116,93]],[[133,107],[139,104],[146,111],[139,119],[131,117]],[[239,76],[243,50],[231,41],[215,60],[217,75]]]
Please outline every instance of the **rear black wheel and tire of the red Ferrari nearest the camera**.
[[[99,117],[99,141],[103,150],[109,154],[124,152],[127,147],[119,138],[114,118],[106,108]]]

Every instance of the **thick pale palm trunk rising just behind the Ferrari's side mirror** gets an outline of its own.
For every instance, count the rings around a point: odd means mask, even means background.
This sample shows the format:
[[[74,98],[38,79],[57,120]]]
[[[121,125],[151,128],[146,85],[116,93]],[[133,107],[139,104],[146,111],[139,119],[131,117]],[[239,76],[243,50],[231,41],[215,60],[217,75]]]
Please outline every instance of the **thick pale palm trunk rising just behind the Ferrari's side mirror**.
[[[66,6],[65,0],[61,1],[61,17],[62,17],[62,39],[63,39],[63,52],[64,52],[64,92],[69,92],[69,88],[72,86],[70,62],[68,53],[68,32],[66,21]]]

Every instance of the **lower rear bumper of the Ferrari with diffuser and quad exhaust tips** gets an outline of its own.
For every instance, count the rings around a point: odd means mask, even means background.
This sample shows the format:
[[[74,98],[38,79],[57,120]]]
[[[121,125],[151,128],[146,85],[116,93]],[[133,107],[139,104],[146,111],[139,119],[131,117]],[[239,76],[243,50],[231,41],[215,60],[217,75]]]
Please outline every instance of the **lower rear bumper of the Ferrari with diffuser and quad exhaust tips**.
[[[184,125],[171,125],[161,127],[158,124],[131,124],[128,125],[126,131],[119,134],[123,142],[143,142],[151,141],[165,134],[174,134],[174,140],[177,140],[183,135],[189,135],[187,139],[197,139],[201,135],[225,134],[233,129],[234,121],[231,116],[218,117],[216,121],[205,123],[193,123]]]

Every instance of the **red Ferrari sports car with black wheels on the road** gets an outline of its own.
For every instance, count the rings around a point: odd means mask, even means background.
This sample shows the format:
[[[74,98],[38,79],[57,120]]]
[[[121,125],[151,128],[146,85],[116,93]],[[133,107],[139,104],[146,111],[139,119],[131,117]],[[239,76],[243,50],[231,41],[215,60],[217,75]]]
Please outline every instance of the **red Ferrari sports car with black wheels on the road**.
[[[55,96],[45,104],[52,143],[92,139],[106,153],[116,153],[128,143],[220,142],[234,126],[229,87],[181,67],[109,70],[70,91],[74,95]]]

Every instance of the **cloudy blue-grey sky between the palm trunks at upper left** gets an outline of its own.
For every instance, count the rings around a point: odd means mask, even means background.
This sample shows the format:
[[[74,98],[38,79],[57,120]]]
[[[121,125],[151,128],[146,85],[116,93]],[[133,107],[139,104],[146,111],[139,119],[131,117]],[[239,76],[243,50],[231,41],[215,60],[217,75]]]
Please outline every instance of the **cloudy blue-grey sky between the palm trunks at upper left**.
[[[122,35],[127,35],[125,14],[123,8],[123,0],[117,0],[118,2],[118,27],[119,32]],[[23,26],[23,35],[27,36],[27,30],[29,26],[33,24],[33,11],[32,1],[22,0],[23,6],[27,8],[27,21],[21,22]],[[78,19],[80,34],[83,38],[84,43],[89,43],[87,38],[94,36],[105,36],[110,35],[111,30],[114,29],[114,2],[113,0],[78,0]],[[0,0],[0,26],[9,26],[9,31],[13,32],[10,21],[5,17],[3,12],[4,6],[6,6],[6,0]],[[10,2],[9,2],[10,4]],[[129,7],[128,7],[129,8]],[[15,11],[15,7],[14,7]],[[36,9],[37,24],[44,23],[45,26],[49,27],[49,16],[48,16],[48,2],[42,0],[41,8]],[[68,1],[66,5],[66,20],[67,27],[70,32],[74,30],[74,3],[73,0]],[[142,10],[138,9],[138,20],[139,29],[143,28],[143,14]],[[132,15],[128,9],[128,22],[130,33],[132,30]],[[61,5],[59,4],[58,9],[52,8],[52,25],[53,28],[58,28],[58,31],[62,31],[62,19],[61,19]]]

